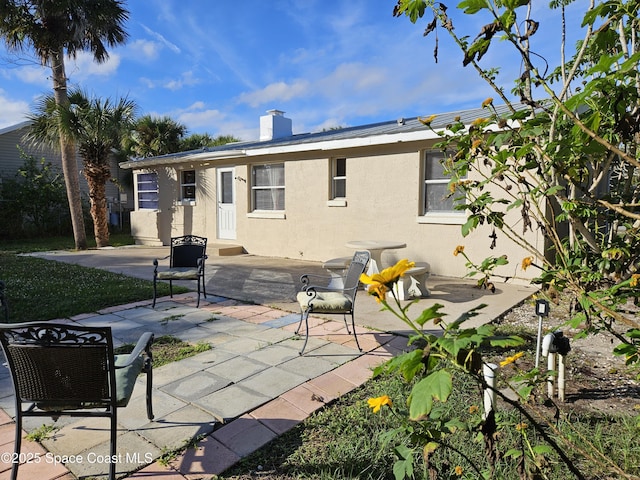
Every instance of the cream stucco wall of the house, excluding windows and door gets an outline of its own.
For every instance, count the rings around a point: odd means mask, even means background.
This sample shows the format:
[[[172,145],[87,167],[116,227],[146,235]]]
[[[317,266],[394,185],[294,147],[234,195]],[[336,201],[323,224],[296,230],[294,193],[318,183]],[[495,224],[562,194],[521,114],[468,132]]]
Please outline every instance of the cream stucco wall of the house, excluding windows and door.
[[[154,218],[149,212],[132,214],[134,237],[149,243],[156,231],[157,241],[167,244],[171,236],[198,234],[210,243],[234,243],[250,253],[269,257],[287,257],[324,261],[350,256],[350,240],[398,240],[406,248],[388,251],[383,260],[400,258],[427,262],[438,275],[465,275],[465,259],[453,256],[456,245],[464,245],[472,260],[481,262],[488,255],[506,254],[510,264],[497,273],[529,278],[520,262],[528,254],[498,233],[498,243],[489,249],[491,228],[483,226],[463,238],[460,226],[465,219],[453,216],[453,224],[423,223],[420,220],[423,189],[422,163],[430,144],[406,143],[366,147],[349,151],[314,152],[245,158],[236,162],[235,241],[217,240],[216,166],[184,164],[179,168],[197,171],[197,198],[193,206],[176,204],[179,182],[176,169],[163,167],[159,188],[161,212]],[[330,206],[330,158],[347,158],[346,206]],[[285,163],[284,218],[255,218],[250,212],[251,169],[253,163]],[[168,192],[168,193],[167,193]],[[456,221],[457,220],[457,221]],[[509,213],[508,222],[520,221],[517,211]],[[540,242],[529,233],[531,241]]]

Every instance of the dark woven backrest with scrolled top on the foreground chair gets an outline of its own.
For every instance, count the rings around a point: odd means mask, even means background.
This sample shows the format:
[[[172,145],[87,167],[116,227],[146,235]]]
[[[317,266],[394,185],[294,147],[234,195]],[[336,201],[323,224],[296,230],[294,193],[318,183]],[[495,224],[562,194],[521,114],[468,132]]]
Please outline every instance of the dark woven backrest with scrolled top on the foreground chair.
[[[110,327],[3,325],[0,342],[20,401],[115,406]]]

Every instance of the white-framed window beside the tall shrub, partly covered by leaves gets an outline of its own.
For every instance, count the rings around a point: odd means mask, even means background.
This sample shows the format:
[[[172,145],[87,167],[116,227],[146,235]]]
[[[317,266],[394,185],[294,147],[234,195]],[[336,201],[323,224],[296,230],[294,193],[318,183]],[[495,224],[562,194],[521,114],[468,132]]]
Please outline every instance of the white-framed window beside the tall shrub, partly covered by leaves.
[[[422,214],[455,214],[463,215],[464,212],[456,210],[455,206],[460,200],[455,200],[457,194],[451,195],[449,191],[450,177],[445,172],[444,162],[450,154],[441,150],[425,152],[424,157],[424,202]]]

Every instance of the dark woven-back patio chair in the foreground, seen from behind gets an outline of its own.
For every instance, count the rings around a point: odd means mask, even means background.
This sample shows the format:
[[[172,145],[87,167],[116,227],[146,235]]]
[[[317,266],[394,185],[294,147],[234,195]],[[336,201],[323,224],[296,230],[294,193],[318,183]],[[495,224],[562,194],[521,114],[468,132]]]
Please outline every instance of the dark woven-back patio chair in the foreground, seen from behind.
[[[111,327],[53,322],[0,324],[0,343],[15,391],[15,453],[19,458],[23,417],[108,417],[110,455],[116,455],[117,410],[125,407],[138,374],[147,374],[147,417],[151,404],[153,334],[144,333],[128,355],[114,355]],[[19,462],[11,478],[18,475]],[[115,479],[110,462],[109,478]]]

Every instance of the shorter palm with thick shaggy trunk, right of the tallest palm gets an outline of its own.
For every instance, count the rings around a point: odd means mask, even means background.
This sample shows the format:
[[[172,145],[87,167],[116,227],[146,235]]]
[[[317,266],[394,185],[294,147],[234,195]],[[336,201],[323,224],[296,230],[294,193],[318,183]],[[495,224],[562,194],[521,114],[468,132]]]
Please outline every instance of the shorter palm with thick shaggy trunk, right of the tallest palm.
[[[121,98],[88,98],[80,90],[69,93],[69,105],[60,106],[53,96],[44,97],[30,116],[29,137],[55,145],[62,135],[78,146],[83,174],[89,185],[91,218],[98,247],[109,245],[106,183],[111,178],[111,156],[122,146],[135,118],[136,105]]]

